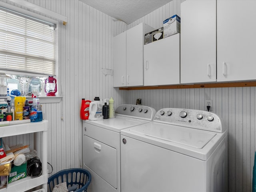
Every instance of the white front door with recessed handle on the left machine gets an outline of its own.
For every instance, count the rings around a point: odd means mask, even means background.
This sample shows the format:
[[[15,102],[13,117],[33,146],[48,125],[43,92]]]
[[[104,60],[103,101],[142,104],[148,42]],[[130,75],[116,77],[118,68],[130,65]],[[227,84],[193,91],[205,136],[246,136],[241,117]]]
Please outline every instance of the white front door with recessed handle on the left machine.
[[[117,188],[116,149],[84,135],[84,152],[85,165]]]

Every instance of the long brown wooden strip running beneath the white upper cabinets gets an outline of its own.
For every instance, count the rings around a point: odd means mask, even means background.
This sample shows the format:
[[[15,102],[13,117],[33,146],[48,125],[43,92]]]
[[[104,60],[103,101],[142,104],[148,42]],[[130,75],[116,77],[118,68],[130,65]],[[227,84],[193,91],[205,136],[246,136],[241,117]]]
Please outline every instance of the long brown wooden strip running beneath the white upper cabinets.
[[[254,87],[256,81],[247,82],[225,82],[205,84],[178,84],[164,86],[142,86],[142,87],[120,87],[119,90],[147,90],[147,89],[188,89],[188,88],[218,88],[218,87]]]

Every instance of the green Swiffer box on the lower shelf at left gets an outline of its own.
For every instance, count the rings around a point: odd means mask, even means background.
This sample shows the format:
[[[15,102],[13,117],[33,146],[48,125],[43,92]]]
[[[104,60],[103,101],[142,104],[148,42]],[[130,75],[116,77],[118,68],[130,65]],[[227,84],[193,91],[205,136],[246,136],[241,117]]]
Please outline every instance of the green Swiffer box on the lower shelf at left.
[[[13,166],[8,177],[8,183],[23,179],[27,176],[27,162],[20,166]]]

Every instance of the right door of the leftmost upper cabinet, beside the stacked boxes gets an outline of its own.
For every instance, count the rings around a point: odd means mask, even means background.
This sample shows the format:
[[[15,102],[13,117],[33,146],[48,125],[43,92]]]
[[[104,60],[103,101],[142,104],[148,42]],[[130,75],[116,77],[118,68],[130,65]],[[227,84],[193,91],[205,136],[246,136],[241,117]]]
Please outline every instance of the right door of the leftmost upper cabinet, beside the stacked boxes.
[[[126,31],[126,86],[143,86],[143,23]]]

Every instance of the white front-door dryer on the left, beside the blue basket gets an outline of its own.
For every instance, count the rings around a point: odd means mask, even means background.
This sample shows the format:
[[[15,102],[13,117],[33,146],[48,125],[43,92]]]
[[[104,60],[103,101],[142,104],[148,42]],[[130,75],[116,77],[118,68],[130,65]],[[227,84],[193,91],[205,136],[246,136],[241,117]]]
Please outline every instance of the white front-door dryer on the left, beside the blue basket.
[[[92,174],[88,192],[120,192],[120,131],[153,120],[156,110],[120,105],[116,118],[83,121],[83,167]]]

